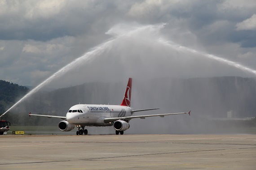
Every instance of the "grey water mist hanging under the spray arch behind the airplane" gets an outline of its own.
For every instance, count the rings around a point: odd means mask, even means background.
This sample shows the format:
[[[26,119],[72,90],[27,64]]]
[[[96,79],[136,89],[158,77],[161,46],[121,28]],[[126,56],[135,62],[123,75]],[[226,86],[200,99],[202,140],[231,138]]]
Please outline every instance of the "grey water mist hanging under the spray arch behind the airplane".
[[[230,87],[224,83],[222,89],[219,89],[219,86],[211,81],[201,81],[202,78],[216,75],[243,77],[255,77],[255,75],[252,72],[198,53],[182,51],[164,45],[159,39],[175,43],[175,38],[179,34],[175,30],[166,36],[166,27],[168,25],[164,23],[156,25],[121,23],[113,26],[106,30],[108,39],[105,42],[110,41],[111,43],[108,43],[101,53],[93,55],[89,60],[81,60],[79,64],[72,65],[71,69],[54,77],[44,86],[57,90],[49,93],[42,91],[35,93],[16,106],[15,110],[22,110],[27,113],[30,111],[38,112],[39,109],[35,108],[38,105],[31,106],[30,104],[33,103],[32,101],[37,101],[42,102],[41,113],[53,112],[53,110],[48,110],[48,105],[51,105],[55,106],[54,114],[64,116],[71,106],[78,103],[119,105],[128,78],[132,77],[132,108],[160,108],[157,112],[139,112],[136,115],[177,113],[191,110],[191,116],[170,115],[164,118],[132,119],[130,128],[125,133],[193,134],[220,132],[221,129],[218,124],[209,123],[207,118],[209,116],[213,118],[226,117],[226,112],[234,109],[231,106],[238,106],[240,99],[237,98],[243,95],[244,91],[236,91],[233,96],[228,93],[229,96],[224,99],[230,100],[228,102],[233,104],[227,106],[227,103],[221,101],[223,101],[225,89]],[[202,46],[197,43],[195,38],[188,37],[188,41],[188,45],[192,44],[189,48],[203,51]],[[102,43],[104,44],[104,42]],[[85,54],[90,54],[90,51],[97,47],[89,49]],[[190,81],[191,78],[197,77],[200,78],[199,82],[196,79]],[[233,81],[229,85],[232,83]],[[252,81],[252,83],[254,82]],[[82,84],[85,85],[82,86]],[[68,93],[67,87],[71,88]],[[57,91],[58,95],[54,96]],[[44,103],[45,98],[47,98],[45,95],[53,95],[51,96],[52,103]],[[246,100],[247,98],[243,99]],[[239,110],[239,112],[243,112],[243,110]],[[245,114],[245,116],[247,115]],[[111,133],[112,127],[106,127],[107,130],[95,128],[99,130],[91,132],[91,134]]]

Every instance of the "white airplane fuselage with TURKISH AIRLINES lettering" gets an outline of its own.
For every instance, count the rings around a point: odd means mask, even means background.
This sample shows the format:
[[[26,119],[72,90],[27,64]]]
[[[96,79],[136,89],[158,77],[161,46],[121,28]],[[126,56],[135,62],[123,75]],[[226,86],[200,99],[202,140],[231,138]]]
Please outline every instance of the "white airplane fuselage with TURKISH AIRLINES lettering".
[[[81,126],[112,126],[112,122],[104,123],[104,119],[131,116],[131,110],[128,106],[79,104],[70,108],[66,120]]]

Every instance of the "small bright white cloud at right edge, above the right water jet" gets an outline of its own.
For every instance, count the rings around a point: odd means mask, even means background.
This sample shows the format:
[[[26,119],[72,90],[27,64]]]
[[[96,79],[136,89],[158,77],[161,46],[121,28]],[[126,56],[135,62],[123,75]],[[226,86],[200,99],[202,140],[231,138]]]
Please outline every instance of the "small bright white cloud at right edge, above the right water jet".
[[[256,14],[236,24],[236,30],[256,30]]]

